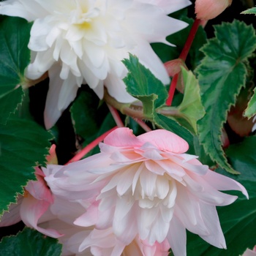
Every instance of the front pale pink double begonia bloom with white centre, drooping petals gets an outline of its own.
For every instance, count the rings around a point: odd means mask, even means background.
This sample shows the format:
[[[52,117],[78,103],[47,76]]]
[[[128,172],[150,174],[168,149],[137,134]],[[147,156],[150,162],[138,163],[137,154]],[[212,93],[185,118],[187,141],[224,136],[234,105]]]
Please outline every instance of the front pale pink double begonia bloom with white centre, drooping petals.
[[[186,229],[226,248],[216,206],[237,198],[220,190],[248,197],[241,184],[186,154],[187,142],[164,129],[136,137],[118,128],[99,146],[99,154],[45,177],[55,195],[89,203],[75,225],[112,228],[127,245],[138,236],[151,246],[167,239],[178,256],[186,255]]]

